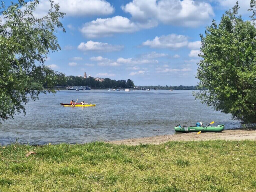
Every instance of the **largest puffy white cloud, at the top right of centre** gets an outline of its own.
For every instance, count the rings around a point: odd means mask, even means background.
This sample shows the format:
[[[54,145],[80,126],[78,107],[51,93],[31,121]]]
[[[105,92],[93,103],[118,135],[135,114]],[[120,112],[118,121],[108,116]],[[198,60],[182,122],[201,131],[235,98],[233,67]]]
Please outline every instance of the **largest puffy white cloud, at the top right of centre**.
[[[214,16],[209,3],[194,0],[133,0],[122,9],[141,23],[156,20],[189,27],[201,25]]]

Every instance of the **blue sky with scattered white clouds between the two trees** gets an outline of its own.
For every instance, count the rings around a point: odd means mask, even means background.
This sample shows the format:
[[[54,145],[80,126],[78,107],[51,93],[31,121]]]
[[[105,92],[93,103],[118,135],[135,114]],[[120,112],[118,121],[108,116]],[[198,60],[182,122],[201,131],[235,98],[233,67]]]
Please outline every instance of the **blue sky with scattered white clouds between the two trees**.
[[[55,0],[66,16],[61,50],[46,65],[66,75],[128,78],[135,85],[196,85],[200,37],[237,0]],[[9,1],[4,0],[6,5]],[[49,9],[39,0],[35,15]],[[248,20],[250,0],[240,1]]]

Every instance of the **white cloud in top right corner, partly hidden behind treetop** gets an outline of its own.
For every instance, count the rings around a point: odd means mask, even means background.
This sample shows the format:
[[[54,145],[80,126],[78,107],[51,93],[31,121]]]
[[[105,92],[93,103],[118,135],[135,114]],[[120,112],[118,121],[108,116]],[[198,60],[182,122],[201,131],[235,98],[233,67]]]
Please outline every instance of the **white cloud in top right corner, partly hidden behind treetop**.
[[[240,9],[238,11],[239,14],[241,13],[249,13],[247,10],[250,8],[250,0],[215,0],[217,1],[220,6],[224,7],[224,9],[231,9],[236,2],[238,1]]]

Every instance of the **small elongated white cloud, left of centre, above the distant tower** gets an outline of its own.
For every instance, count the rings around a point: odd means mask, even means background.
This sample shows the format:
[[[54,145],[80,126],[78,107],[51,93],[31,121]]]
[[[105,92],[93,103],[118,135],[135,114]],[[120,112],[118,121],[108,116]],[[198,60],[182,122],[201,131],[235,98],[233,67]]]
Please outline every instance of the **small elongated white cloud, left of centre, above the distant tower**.
[[[86,43],[81,42],[80,45],[77,47],[81,51],[120,51],[123,46],[121,45],[111,45],[108,43],[102,42],[94,42],[94,41],[87,41]]]

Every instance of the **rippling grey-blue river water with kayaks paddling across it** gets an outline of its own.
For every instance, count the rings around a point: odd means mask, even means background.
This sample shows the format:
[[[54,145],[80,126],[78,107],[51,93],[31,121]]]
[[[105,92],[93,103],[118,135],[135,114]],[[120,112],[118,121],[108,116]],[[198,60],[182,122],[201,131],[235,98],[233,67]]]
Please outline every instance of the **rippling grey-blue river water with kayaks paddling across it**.
[[[197,121],[225,129],[241,127],[230,115],[195,100],[191,90],[151,91],[59,91],[40,95],[19,114],[0,125],[0,144],[15,142],[85,143],[95,140],[175,134],[174,126],[195,125]],[[70,100],[96,104],[95,107],[63,107]],[[159,130],[159,131],[154,131]]]

